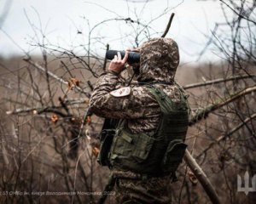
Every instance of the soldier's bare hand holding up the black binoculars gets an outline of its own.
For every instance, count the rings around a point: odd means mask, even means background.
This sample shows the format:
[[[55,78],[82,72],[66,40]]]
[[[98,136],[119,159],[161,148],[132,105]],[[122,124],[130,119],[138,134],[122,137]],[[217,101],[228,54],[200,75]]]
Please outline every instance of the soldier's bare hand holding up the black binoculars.
[[[128,54],[129,54],[129,51],[126,50],[124,59],[122,59],[121,54],[119,52],[117,55],[114,55],[114,58],[112,59],[112,61],[109,64],[108,70],[114,71],[117,74],[119,74],[121,71],[123,71],[124,67],[125,67],[125,63],[128,59]]]

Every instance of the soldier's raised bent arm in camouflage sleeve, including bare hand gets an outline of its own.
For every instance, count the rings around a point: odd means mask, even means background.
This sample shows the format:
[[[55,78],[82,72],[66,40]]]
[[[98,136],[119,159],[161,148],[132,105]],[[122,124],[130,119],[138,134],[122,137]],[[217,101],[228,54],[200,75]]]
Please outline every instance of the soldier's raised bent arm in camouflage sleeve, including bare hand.
[[[115,55],[108,71],[105,71],[97,80],[90,98],[90,109],[97,116],[140,118],[152,116],[154,114],[152,110],[159,108],[154,96],[149,94],[147,88],[124,87],[115,89],[119,73],[123,71],[127,59],[128,51],[126,51],[124,59],[121,59],[119,53],[118,56]]]

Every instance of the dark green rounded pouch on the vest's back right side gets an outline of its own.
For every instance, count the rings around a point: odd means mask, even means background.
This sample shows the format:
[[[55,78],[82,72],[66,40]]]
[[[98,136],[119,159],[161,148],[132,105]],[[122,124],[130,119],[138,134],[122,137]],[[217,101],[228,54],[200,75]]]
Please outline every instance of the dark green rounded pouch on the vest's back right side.
[[[168,144],[161,163],[161,168],[164,172],[171,173],[177,170],[178,165],[183,161],[186,148],[187,144],[184,144],[182,139],[173,139]]]

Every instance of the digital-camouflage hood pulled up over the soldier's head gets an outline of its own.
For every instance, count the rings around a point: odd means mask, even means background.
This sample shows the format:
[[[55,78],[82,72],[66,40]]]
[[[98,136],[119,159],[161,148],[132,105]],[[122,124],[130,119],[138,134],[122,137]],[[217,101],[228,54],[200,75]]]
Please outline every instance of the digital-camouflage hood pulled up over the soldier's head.
[[[173,82],[179,54],[171,38],[153,38],[140,47],[141,61],[138,82]]]

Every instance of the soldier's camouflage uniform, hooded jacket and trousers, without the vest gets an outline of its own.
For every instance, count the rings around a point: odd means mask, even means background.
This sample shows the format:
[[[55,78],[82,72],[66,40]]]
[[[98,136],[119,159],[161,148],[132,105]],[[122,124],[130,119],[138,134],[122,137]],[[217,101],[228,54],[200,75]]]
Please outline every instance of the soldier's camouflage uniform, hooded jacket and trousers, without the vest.
[[[122,97],[113,94],[119,84],[119,77],[104,72],[96,82],[90,98],[90,107],[97,116],[127,119],[132,133],[154,131],[160,121],[160,106],[144,83],[154,83],[162,88],[173,101],[181,96],[174,82],[179,64],[177,43],[171,38],[154,38],[140,47],[141,61],[137,84],[130,86],[131,93]],[[127,174],[127,172],[124,172]],[[168,191],[170,179],[166,177],[135,180],[119,178],[115,186],[119,203],[170,203]]]

